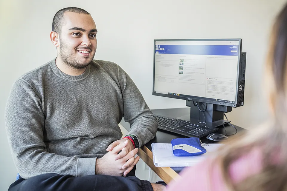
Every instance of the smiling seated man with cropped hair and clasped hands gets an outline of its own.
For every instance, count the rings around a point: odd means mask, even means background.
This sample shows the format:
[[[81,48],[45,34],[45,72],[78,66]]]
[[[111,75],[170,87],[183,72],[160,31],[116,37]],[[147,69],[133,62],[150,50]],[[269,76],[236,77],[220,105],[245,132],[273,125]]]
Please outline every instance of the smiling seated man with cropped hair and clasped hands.
[[[162,189],[130,176],[157,121],[122,68],[93,60],[96,35],[88,12],[59,10],[50,34],[57,58],[13,84],[5,123],[21,178],[9,190]],[[120,139],[122,117],[131,128]]]

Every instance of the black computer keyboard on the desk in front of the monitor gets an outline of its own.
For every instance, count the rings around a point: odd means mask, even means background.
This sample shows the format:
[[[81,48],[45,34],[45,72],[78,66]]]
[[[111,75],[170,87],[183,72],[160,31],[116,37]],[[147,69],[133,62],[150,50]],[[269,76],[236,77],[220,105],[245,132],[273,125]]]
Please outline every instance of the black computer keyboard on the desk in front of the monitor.
[[[205,124],[193,124],[176,118],[168,118],[155,115],[158,121],[158,129],[177,133],[187,137],[204,137],[219,130],[216,127],[207,127]]]

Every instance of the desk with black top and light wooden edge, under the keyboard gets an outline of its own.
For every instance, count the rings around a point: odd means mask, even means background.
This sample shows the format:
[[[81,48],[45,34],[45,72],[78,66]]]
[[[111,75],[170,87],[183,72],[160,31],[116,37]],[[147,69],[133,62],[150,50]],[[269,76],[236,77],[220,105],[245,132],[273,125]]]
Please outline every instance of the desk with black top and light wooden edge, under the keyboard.
[[[162,115],[170,118],[180,118],[186,121],[189,121],[190,118],[190,107],[186,108],[176,108],[176,109],[159,109],[159,110],[152,110],[155,115]],[[129,132],[129,123],[126,123],[124,119],[120,122],[120,127],[124,135]],[[235,126],[239,131],[244,130],[241,127]],[[234,132],[234,128],[231,126],[226,126],[226,131],[228,134],[232,134]],[[219,133],[223,133],[223,128],[220,129]],[[138,150],[138,156],[151,168],[165,183],[169,183],[173,179],[179,177],[178,173],[184,167],[155,167],[153,164],[153,157],[152,157],[152,143],[170,143],[170,141],[174,138],[185,138],[182,135],[177,135],[174,133],[165,132],[162,130],[158,130],[155,138],[149,141],[147,144],[142,146]],[[212,141],[207,140],[206,138],[201,139],[202,142],[210,143]]]

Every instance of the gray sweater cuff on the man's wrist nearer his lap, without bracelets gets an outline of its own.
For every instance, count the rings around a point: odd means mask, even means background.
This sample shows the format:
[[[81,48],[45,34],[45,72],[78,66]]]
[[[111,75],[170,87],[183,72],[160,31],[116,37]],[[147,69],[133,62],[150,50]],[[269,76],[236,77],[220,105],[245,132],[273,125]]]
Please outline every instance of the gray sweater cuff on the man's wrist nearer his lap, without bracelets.
[[[97,158],[78,158],[76,177],[94,175]]]

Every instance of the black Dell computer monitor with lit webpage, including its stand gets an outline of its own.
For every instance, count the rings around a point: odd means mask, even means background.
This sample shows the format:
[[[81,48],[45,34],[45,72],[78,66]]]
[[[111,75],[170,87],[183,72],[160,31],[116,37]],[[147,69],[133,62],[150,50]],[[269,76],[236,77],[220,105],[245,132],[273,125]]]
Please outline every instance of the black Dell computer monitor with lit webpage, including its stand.
[[[223,113],[243,106],[246,53],[242,39],[154,40],[153,92],[155,96],[193,103],[190,120],[198,118],[204,103],[206,121],[219,126]],[[204,110],[204,106],[201,110]]]

